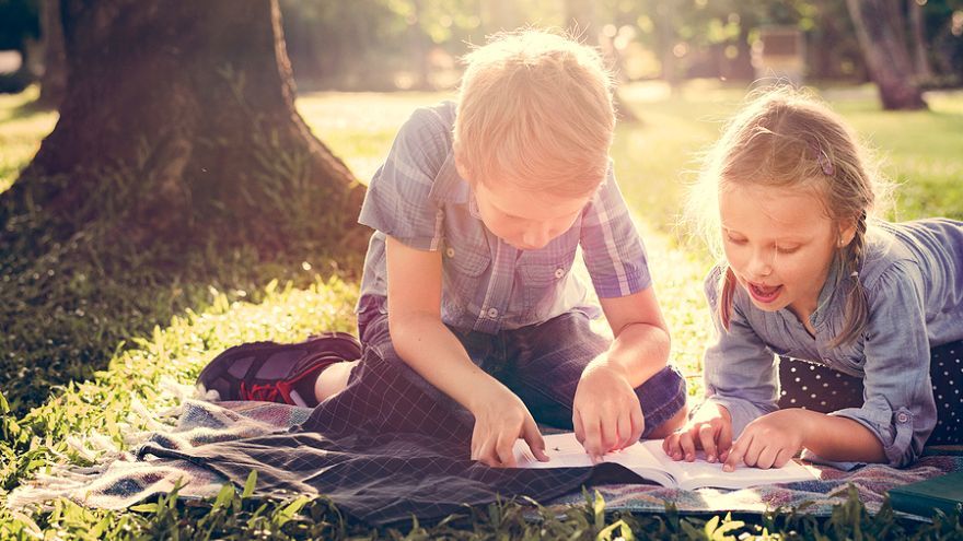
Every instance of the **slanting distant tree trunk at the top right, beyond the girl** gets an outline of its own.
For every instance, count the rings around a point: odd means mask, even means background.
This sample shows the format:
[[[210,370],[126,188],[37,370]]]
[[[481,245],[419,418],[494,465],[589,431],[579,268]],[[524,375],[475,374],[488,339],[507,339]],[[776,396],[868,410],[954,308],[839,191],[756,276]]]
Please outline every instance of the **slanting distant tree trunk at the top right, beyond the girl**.
[[[901,23],[904,19],[894,16],[898,13],[893,1],[846,0],[846,5],[883,108],[926,108],[923,93],[913,83],[913,62],[903,37],[906,26]]]

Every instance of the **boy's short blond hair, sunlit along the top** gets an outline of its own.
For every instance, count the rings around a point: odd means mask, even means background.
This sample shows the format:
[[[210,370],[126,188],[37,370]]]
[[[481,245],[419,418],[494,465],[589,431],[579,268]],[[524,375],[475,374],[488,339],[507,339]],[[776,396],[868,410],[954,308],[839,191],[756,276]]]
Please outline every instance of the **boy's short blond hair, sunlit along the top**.
[[[465,56],[454,151],[469,183],[581,197],[605,178],[615,128],[612,77],[599,52],[522,30]]]

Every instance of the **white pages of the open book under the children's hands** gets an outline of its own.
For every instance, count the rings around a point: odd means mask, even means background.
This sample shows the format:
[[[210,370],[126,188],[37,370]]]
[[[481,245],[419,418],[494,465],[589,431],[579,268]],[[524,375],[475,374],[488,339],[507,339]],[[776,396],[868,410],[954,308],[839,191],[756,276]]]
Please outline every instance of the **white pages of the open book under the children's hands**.
[[[585,454],[582,444],[571,432],[545,436],[545,454],[548,462],[539,462],[519,440],[514,448],[519,468],[566,468],[589,467],[592,460]],[[782,468],[761,470],[746,466],[736,467],[735,471],[722,471],[719,462],[707,462],[701,452],[694,462],[672,460],[662,450],[661,439],[639,442],[619,451],[602,457],[603,462],[615,462],[636,472],[639,477],[654,481],[662,486],[682,490],[701,487],[745,489],[761,484],[791,483],[819,479],[817,470],[790,460]]]

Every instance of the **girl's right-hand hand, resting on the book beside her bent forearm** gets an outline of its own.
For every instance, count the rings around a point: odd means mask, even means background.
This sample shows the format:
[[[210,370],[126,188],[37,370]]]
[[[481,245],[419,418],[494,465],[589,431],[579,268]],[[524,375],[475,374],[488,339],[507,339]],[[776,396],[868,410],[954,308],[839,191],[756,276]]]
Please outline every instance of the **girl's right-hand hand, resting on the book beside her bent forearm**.
[[[774,411],[747,424],[729,451],[722,471],[733,471],[740,463],[763,470],[785,466],[802,449],[808,417],[800,415],[801,411]]]

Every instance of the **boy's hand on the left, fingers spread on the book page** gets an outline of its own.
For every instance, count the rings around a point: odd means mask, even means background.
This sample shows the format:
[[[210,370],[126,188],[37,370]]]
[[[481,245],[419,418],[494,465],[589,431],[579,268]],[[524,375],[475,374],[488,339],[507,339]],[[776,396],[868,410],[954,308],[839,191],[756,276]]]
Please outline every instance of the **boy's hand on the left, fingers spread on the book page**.
[[[535,458],[547,462],[545,440],[529,409],[514,392],[495,380],[492,383],[495,385],[476,396],[472,408],[475,415],[472,460],[491,467],[514,468],[514,445],[521,437]]]

